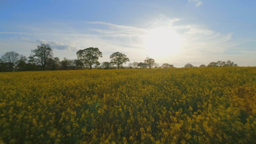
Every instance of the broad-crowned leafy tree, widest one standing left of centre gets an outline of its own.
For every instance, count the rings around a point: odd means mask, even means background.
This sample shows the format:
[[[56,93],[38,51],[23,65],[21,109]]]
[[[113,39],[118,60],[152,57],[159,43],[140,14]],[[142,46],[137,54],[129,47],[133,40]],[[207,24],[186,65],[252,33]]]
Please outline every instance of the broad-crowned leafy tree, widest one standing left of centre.
[[[79,50],[76,52],[78,60],[82,60],[86,67],[99,66],[100,62],[99,57],[102,58],[102,52],[100,52],[99,48],[89,47],[84,50]]]

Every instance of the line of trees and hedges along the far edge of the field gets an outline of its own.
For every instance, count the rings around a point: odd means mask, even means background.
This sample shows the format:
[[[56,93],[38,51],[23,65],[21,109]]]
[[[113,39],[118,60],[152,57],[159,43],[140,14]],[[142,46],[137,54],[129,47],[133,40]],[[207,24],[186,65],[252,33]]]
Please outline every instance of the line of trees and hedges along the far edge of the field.
[[[60,60],[59,57],[53,57],[53,50],[49,44],[37,45],[36,49],[31,50],[30,56],[27,58],[17,52],[10,51],[4,53],[0,58],[0,71],[31,71],[31,70],[75,70],[85,68],[98,69],[120,69],[120,68],[174,68],[172,64],[163,63],[161,67],[154,59],[146,57],[144,62],[129,63],[128,67],[123,64],[130,61],[127,56],[121,52],[114,52],[109,56],[110,62],[104,61],[100,63],[98,60],[102,57],[102,52],[99,48],[89,47],[76,52],[77,59],[67,59],[64,57]],[[211,62],[207,67],[223,67],[237,66],[234,62],[228,60]],[[186,64],[185,68],[194,67],[191,64]],[[206,67],[206,65],[200,65]]]

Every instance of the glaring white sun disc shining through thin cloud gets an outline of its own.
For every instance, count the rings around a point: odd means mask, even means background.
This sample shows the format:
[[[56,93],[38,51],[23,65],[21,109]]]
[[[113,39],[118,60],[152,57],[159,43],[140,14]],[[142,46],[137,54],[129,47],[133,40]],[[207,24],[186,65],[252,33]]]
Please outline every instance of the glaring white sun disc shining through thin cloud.
[[[143,45],[150,57],[170,56],[180,49],[181,36],[171,27],[160,27],[148,30]]]

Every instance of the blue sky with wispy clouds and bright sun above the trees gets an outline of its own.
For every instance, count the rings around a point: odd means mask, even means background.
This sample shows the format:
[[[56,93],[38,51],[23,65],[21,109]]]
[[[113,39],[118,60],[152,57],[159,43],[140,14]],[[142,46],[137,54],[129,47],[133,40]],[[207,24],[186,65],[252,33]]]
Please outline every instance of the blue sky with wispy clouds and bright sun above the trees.
[[[256,66],[255,0],[0,0],[0,56],[29,56],[50,44],[54,57],[98,47],[130,62],[146,57],[184,67],[231,60]],[[128,63],[126,63],[127,65]]]

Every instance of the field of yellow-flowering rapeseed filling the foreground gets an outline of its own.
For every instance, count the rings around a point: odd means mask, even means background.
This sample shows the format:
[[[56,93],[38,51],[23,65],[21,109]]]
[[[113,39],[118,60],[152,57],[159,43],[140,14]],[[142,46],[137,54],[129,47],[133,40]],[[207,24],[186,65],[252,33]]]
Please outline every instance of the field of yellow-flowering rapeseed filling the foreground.
[[[0,143],[256,143],[256,68],[0,73]]]

